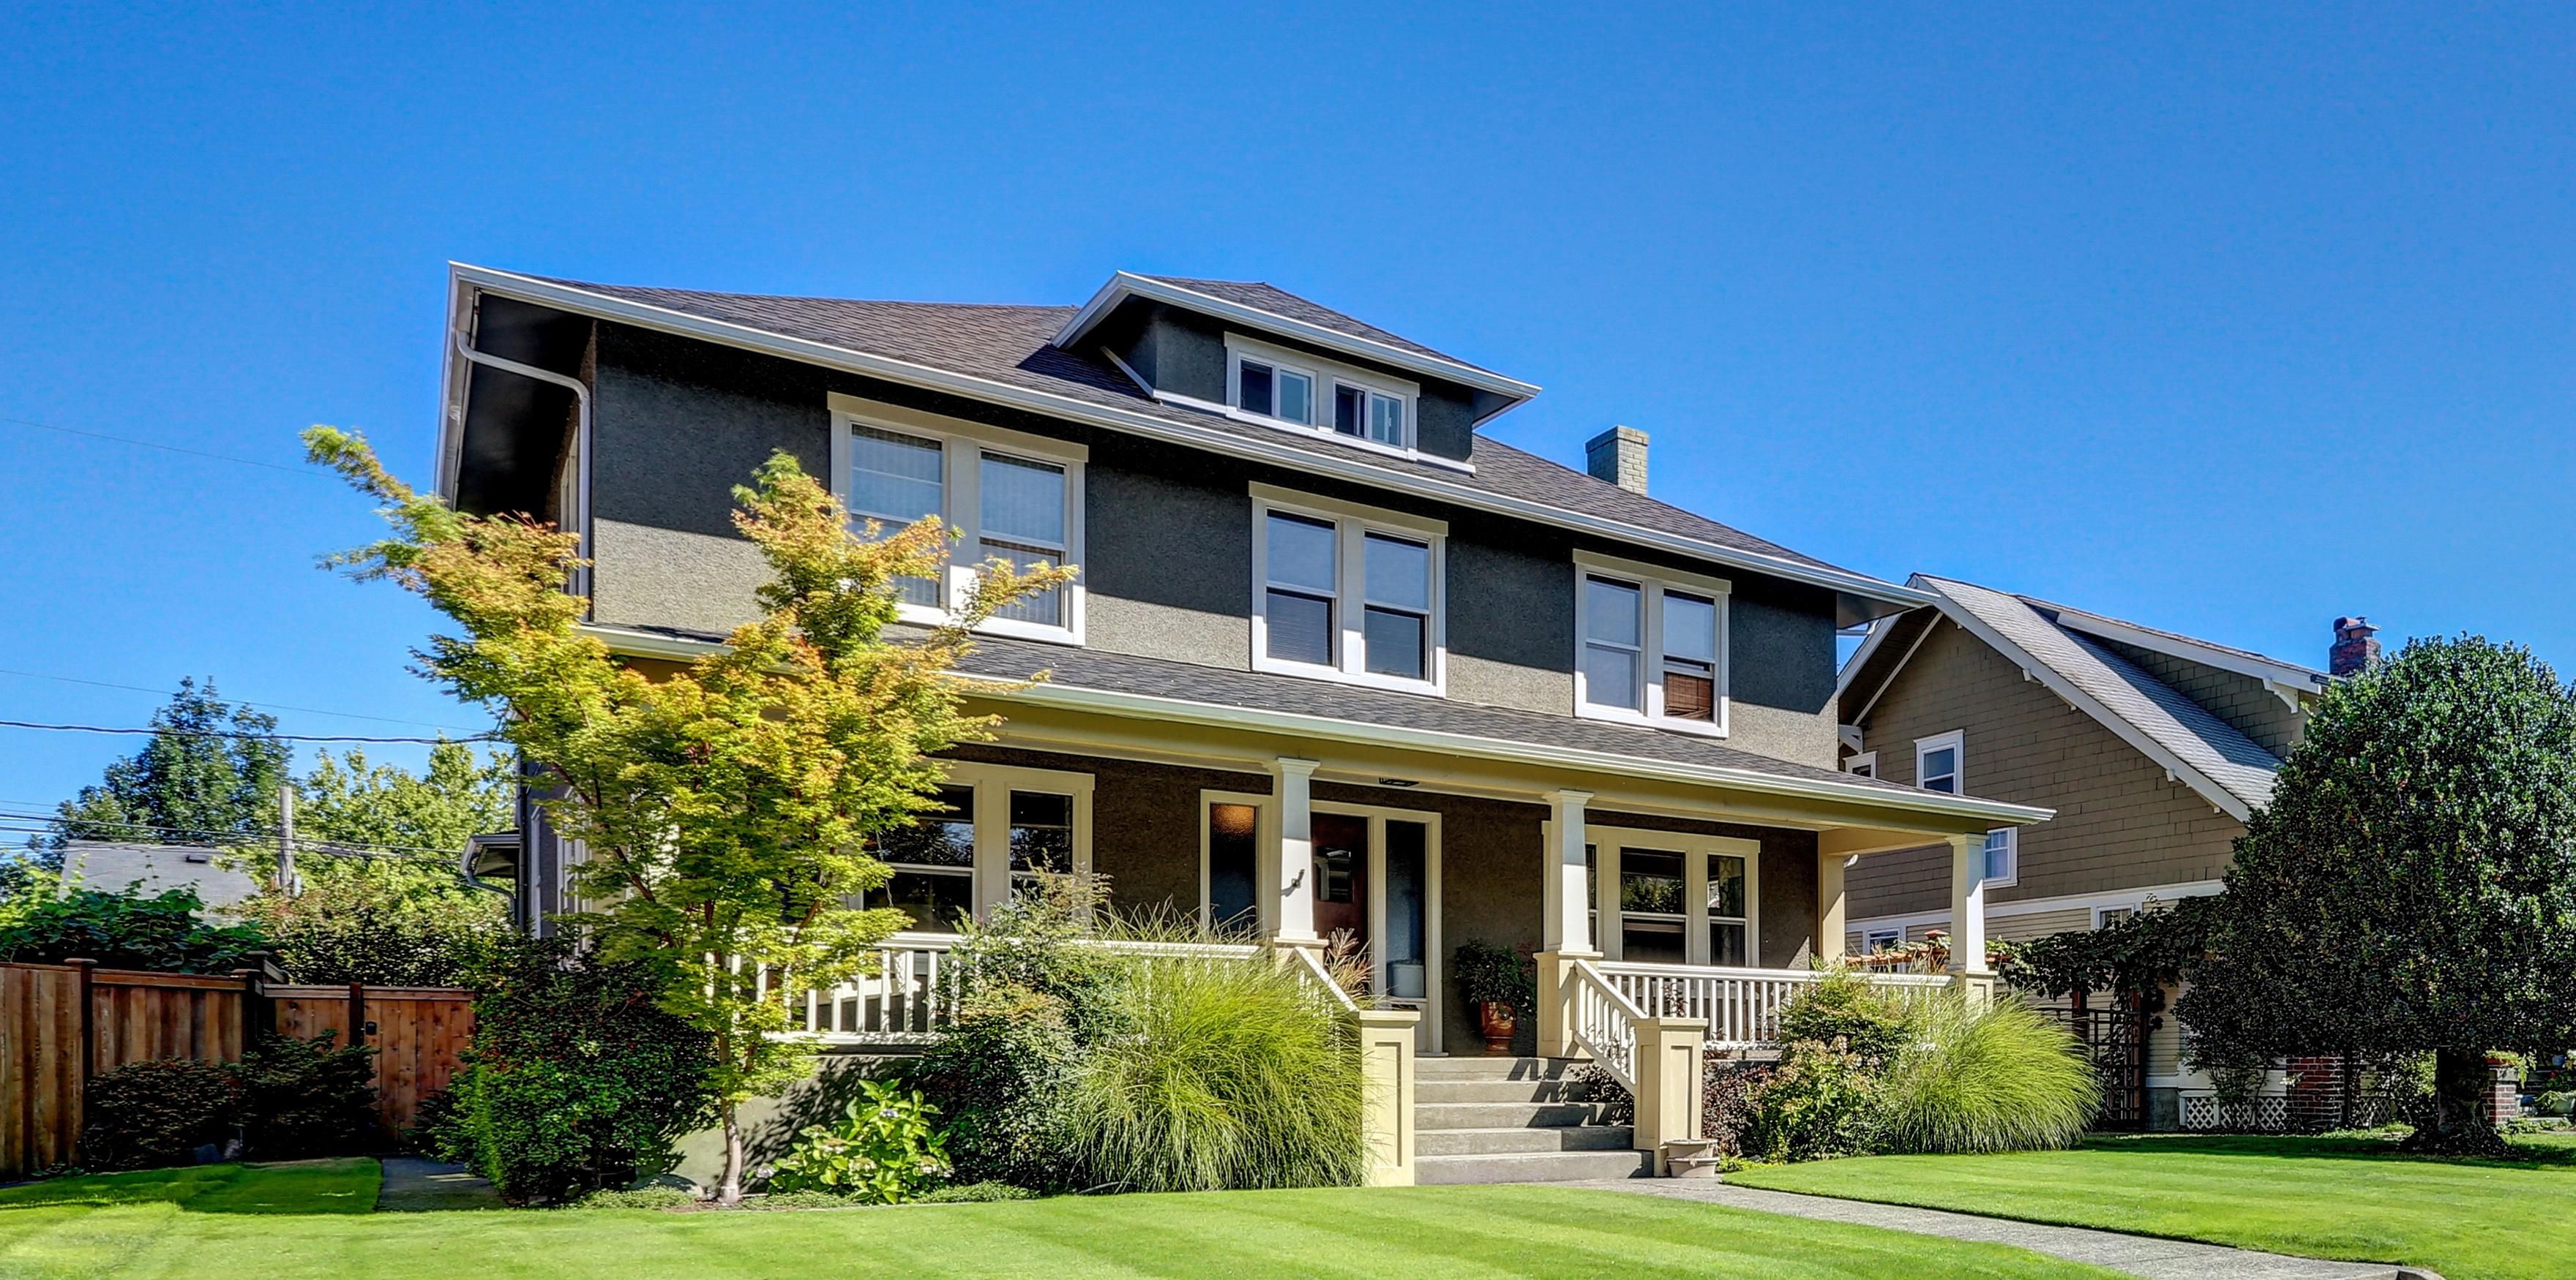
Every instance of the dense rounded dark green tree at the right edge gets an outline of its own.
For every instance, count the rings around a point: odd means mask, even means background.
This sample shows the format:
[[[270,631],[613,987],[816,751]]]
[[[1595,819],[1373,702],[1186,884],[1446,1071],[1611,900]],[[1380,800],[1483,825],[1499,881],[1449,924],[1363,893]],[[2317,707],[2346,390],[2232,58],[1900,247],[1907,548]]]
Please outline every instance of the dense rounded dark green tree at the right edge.
[[[2470,636],[2336,682],[2215,914],[2202,1061],[2432,1051],[2411,1144],[2501,1151],[2486,1053],[2576,1038],[2576,693]]]

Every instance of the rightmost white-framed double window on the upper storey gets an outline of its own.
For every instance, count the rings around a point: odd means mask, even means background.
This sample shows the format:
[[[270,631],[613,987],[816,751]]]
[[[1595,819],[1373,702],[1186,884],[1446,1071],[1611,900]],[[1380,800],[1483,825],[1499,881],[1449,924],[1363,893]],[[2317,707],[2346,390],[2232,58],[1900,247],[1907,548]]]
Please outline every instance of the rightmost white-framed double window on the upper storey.
[[[1726,582],[1577,551],[1579,716],[1726,734]]]

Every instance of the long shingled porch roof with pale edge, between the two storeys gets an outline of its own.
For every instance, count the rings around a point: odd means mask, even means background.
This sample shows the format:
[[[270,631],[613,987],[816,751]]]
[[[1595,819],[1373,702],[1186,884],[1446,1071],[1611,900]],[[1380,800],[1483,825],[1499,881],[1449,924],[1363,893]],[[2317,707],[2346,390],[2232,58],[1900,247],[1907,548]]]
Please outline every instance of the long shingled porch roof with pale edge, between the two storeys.
[[[611,649],[636,654],[652,654],[652,641],[659,639],[672,646],[662,649],[659,657],[685,657],[685,652],[716,644],[716,636],[665,628],[595,631]],[[1043,682],[1010,698],[1110,716],[1234,724],[1316,739],[1662,775],[1682,783],[1860,804],[1891,814],[1973,816],[1994,824],[2030,824],[2053,816],[2050,809],[1950,796],[1775,760],[1700,734],[1476,706],[1296,675],[1200,667],[1007,636],[976,636],[976,649],[961,664],[961,675],[989,680],[1030,680],[1041,672],[1046,672]]]

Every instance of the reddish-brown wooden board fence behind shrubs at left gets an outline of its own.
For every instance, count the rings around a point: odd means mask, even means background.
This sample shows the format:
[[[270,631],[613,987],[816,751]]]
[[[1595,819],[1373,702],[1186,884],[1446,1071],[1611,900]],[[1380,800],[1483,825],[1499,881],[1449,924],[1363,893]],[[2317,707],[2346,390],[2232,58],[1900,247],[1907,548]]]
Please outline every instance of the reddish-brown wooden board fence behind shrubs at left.
[[[90,1077],[134,1061],[240,1061],[260,1030],[376,1048],[376,1113],[402,1133],[474,1038],[469,992],[281,986],[232,976],[0,963],[0,1180],[70,1164]]]

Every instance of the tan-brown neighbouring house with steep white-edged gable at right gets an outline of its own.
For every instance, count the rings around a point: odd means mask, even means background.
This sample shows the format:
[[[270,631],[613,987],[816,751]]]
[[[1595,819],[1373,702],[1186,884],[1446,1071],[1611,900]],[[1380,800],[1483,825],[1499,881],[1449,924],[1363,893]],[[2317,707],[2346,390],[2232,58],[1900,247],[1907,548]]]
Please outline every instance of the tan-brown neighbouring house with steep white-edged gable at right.
[[[1989,940],[2094,930],[2221,889],[2329,672],[1968,582],[1906,585],[1932,603],[1873,623],[1842,670],[1842,767],[2056,811],[1989,837]],[[2372,626],[2334,626],[2334,670],[2360,670]],[[1857,863],[1844,945],[1947,932],[1947,850]],[[2174,1120],[2182,1092],[2208,1082],[2182,1069],[2177,1020],[2146,1046],[2143,1118]]]

